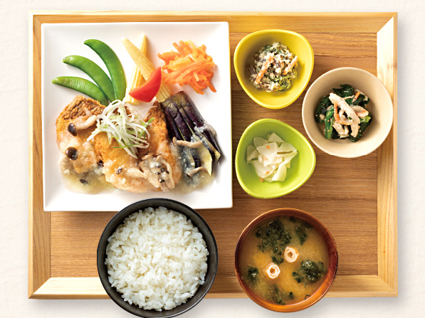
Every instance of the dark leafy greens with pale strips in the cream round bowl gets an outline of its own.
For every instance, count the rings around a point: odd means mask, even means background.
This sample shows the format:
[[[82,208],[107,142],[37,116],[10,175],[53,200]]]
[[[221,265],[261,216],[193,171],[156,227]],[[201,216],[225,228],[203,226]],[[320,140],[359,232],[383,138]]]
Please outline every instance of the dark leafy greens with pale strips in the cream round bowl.
[[[372,122],[367,110],[369,98],[351,85],[340,85],[322,97],[315,111],[315,121],[325,124],[326,139],[350,139],[357,142]]]

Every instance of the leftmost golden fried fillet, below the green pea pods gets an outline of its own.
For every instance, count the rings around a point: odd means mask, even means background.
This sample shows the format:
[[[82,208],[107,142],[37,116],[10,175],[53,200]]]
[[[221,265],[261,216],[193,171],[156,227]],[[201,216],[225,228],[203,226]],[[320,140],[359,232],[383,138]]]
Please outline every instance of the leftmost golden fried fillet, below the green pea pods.
[[[58,148],[64,155],[68,148],[72,151],[74,151],[72,148],[76,149],[76,159],[70,160],[70,163],[79,174],[95,169],[98,165],[99,158],[95,152],[94,143],[88,142],[87,138],[95,129],[95,116],[101,114],[104,108],[105,106],[100,105],[97,100],[78,95],[56,119]],[[73,124],[75,128],[70,129],[74,134],[68,130],[70,124]]]

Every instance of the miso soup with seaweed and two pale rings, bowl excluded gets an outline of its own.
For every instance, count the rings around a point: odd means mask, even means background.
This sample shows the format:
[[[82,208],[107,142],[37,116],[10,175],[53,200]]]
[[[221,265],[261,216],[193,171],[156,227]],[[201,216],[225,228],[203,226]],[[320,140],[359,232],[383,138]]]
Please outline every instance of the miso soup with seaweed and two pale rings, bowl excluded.
[[[253,227],[238,253],[238,272],[261,299],[295,304],[312,296],[329,267],[327,246],[313,226],[278,216]]]

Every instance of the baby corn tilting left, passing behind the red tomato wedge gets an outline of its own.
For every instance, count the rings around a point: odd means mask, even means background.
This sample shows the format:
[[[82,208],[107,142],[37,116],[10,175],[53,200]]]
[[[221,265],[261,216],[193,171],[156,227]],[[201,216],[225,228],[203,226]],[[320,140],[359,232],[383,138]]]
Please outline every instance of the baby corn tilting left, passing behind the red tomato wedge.
[[[145,54],[140,51],[137,46],[135,46],[130,40],[127,38],[122,38],[122,44],[124,44],[127,53],[130,55],[132,60],[139,68],[140,73],[144,78],[149,78],[149,75],[154,71],[154,65],[152,65],[151,61],[146,57]],[[169,89],[168,85],[164,83],[164,80],[161,81],[161,87],[157,92],[157,101],[164,102],[168,97],[172,95],[172,91]]]

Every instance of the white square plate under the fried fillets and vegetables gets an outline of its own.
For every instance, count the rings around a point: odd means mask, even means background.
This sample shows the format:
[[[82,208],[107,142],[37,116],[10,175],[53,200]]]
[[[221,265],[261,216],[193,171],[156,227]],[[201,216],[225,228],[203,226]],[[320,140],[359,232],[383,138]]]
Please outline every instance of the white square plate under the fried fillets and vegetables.
[[[121,38],[137,42],[141,34],[147,36],[147,55],[158,67],[163,64],[157,53],[171,51],[172,43],[191,40],[205,44],[206,52],[216,63],[212,83],[217,92],[205,90],[199,95],[188,86],[172,87],[173,92],[184,90],[192,98],[204,119],[216,129],[216,139],[222,157],[216,168],[214,181],[190,194],[172,191],[132,194],[117,190],[101,194],[76,194],[65,189],[61,181],[56,146],[56,118],[78,92],[51,83],[63,75],[88,78],[82,71],[62,63],[67,55],[82,55],[97,63],[105,72],[103,61],[84,45],[89,38],[104,41],[117,54],[130,80],[133,62],[122,46]],[[81,95],[81,94],[80,94]],[[43,196],[45,211],[119,211],[145,198],[173,198],[191,208],[231,208],[231,87],[229,23],[45,23],[41,26],[41,103],[43,118]]]

